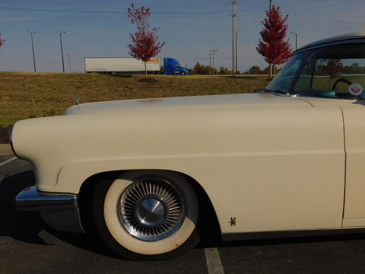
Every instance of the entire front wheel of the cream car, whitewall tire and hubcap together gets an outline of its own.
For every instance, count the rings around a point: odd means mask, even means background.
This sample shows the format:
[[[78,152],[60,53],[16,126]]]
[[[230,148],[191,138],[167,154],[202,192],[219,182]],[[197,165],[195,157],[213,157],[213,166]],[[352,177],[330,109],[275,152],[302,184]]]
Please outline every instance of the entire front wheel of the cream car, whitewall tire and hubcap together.
[[[92,211],[101,238],[131,260],[172,259],[200,241],[196,194],[173,171],[127,171],[95,187]]]

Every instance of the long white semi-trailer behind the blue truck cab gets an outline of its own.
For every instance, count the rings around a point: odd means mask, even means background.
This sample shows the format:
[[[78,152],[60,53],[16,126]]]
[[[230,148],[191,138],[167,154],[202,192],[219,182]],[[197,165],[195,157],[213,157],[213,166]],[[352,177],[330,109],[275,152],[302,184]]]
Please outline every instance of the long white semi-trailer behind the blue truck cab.
[[[146,62],[147,73],[161,74],[160,59],[160,57],[152,57]],[[134,58],[84,57],[84,60],[85,73],[145,73],[145,63]]]

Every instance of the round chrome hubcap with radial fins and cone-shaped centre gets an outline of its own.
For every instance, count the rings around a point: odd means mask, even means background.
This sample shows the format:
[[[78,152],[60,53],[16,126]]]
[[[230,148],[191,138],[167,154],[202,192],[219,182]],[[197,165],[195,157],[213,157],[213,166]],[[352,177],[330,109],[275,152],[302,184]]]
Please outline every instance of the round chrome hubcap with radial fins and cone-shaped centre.
[[[139,240],[166,239],[180,228],[185,218],[183,194],[162,178],[132,181],[118,201],[120,224]]]

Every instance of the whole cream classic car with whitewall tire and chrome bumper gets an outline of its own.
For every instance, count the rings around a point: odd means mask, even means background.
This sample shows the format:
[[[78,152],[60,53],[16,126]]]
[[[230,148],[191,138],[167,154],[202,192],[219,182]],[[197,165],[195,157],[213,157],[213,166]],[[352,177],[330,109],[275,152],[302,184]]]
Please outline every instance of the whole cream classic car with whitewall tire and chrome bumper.
[[[178,256],[215,220],[223,240],[364,232],[364,86],[359,32],[301,47],[251,94],[16,122],[14,153],[36,176],[16,205],[61,231],[89,223],[134,260]]]

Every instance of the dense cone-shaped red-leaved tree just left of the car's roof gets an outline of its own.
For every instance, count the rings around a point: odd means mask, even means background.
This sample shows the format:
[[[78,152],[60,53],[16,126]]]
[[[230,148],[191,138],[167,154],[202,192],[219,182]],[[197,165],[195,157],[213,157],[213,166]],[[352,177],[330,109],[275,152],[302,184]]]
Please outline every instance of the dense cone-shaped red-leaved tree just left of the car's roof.
[[[265,61],[269,64],[280,65],[287,62],[292,53],[292,48],[289,45],[289,39],[284,41],[287,36],[288,25],[284,24],[289,15],[281,15],[280,8],[273,5],[271,11],[266,11],[264,21],[261,23],[264,28],[260,31],[262,40],[259,39],[256,50],[265,57]]]

